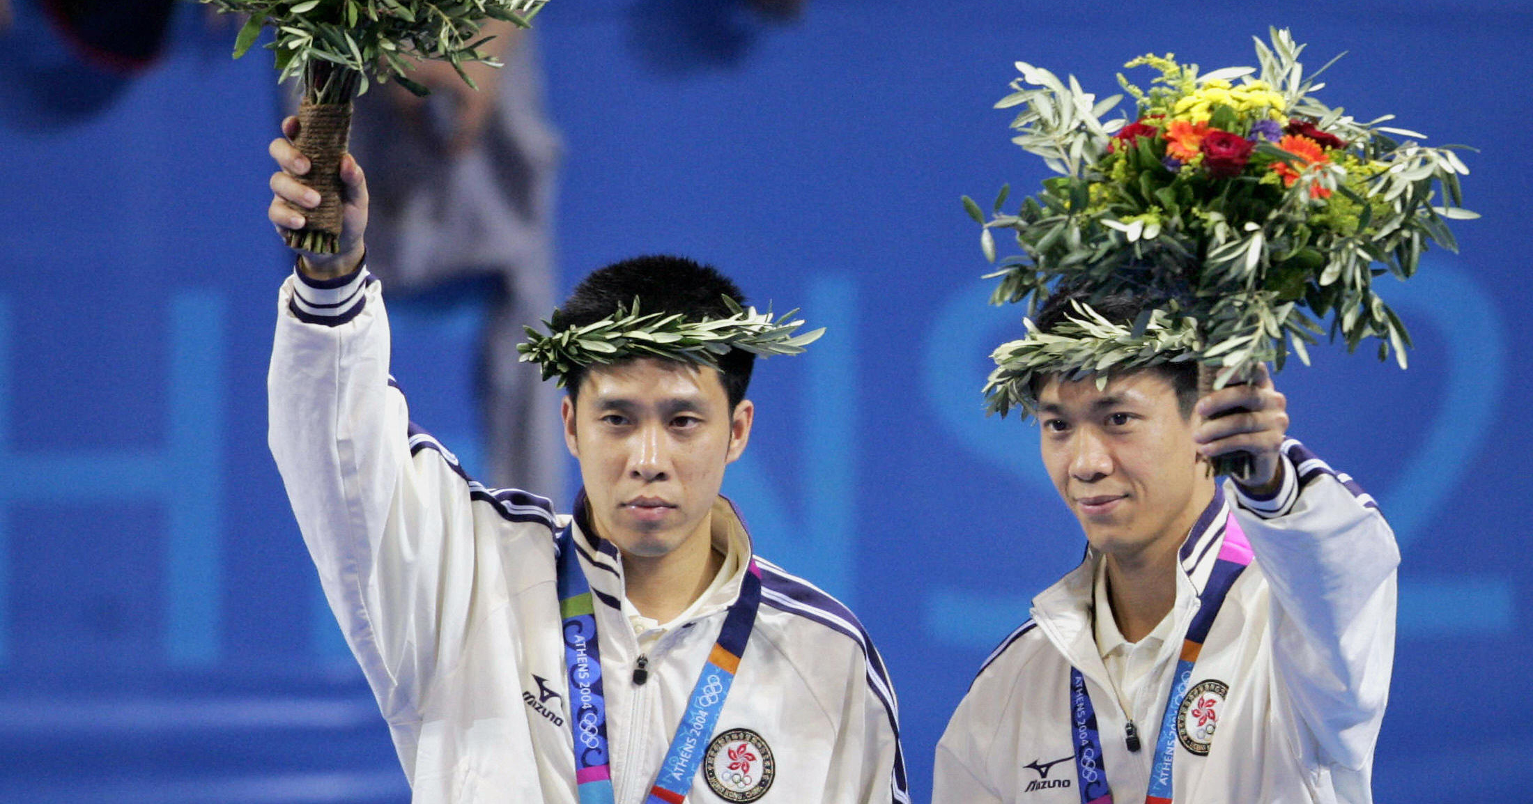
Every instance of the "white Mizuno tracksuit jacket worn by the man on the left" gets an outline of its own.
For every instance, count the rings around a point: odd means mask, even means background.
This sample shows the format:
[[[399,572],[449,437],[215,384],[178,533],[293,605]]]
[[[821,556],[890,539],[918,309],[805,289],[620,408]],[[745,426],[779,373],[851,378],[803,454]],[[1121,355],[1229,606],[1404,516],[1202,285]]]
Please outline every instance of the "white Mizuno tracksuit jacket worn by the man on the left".
[[[573,804],[555,533],[549,501],[489,490],[408,420],[389,329],[365,270],[284,283],[268,377],[270,444],[336,617],[388,721],[417,802]],[[742,556],[722,590],[656,642],[621,611],[616,548],[576,522],[596,602],[616,801],[639,804],[739,593],[750,538],[714,508],[714,544]],[[724,544],[721,544],[721,541]],[[762,605],[716,735],[754,732],[750,786],[728,801],[908,802],[894,691],[857,619],[760,561]],[[722,737],[721,737],[722,740]],[[753,757],[763,753],[754,746]],[[725,801],[698,772],[690,804]],[[742,792],[744,790],[744,792]]]

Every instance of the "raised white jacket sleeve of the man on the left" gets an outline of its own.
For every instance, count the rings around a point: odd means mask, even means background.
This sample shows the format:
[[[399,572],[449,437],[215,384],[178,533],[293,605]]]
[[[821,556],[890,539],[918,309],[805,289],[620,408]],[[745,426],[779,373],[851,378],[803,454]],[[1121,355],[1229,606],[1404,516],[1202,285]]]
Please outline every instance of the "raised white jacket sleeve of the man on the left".
[[[477,576],[492,573],[471,489],[440,450],[412,458],[388,372],[389,328],[366,268],[290,277],[267,378],[268,443],[325,597],[391,723],[419,720],[461,655]],[[484,542],[484,544],[478,544]]]

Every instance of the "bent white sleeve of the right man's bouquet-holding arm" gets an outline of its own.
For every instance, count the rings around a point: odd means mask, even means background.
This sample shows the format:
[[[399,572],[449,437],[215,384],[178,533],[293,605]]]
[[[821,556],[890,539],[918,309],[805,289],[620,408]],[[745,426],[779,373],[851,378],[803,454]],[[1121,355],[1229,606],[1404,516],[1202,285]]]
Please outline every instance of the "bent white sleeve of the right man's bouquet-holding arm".
[[[1351,478],[1298,441],[1283,453],[1289,481],[1277,498],[1231,482],[1272,596],[1275,692],[1306,760],[1361,769],[1389,698],[1400,548]]]

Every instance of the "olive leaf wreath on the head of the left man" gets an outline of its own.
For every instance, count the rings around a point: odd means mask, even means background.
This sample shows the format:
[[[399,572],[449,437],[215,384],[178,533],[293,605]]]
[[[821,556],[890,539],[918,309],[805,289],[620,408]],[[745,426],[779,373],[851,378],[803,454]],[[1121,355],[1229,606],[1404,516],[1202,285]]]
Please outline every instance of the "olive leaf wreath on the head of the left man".
[[[618,305],[612,315],[586,326],[552,332],[553,326],[543,322],[550,332],[527,326],[527,340],[517,346],[518,360],[537,363],[544,380],[556,377],[564,386],[566,375],[576,366],[658,357],[717,368],[719,357],[730,349],[757,357],[794,355],[825,334],[822,326],[796,335],[794,331],[803,326],[803,319],[794,319],[797,309],[774,319],[771,309],[747,309],[728,296],[724,303],[731,312],[725,319],[691,320],[679,312],[642,312],[635,299],[633,305]]]

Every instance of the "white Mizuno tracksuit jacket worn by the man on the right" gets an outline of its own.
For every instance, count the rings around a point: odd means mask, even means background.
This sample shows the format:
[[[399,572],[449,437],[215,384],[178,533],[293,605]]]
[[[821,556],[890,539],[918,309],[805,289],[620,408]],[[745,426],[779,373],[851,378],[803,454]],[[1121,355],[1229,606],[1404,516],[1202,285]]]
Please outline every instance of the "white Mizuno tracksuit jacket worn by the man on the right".
[[[1124,703],[1142,747],[1128,752],[1124,704],[1096,646],[1091,603],[1101,556],[1093,550],[1033,599],[1032,619],[986,660],[937,746],[934,804],[1079,804],[1072,665],[1096,709],[1113,799],[1145,799],[1182,640],[1223,544],[1226,499],[1239,502],[1236,519],[1256,561],[1229,590],[1193,668],[1194,689],[1216,680],[1228,692],[1208,753],[1174,747],[1176,801],[1372,801],[1400,550],[1372,498],[1351,478],[1297,441],[1283,452],[1289,481],[1277,498],[1251,499],[1226,482],[1182,545],[1173,637],[1142,700]]]

